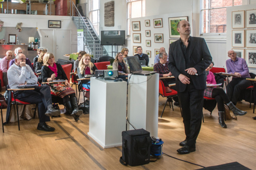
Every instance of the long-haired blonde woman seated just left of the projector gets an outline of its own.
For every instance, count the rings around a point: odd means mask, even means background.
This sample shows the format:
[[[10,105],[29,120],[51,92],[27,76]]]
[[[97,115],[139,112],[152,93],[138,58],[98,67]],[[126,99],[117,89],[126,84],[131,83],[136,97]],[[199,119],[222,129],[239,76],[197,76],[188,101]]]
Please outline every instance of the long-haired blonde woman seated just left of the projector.
[[[84,78],[85,75],[93,75],[97,67],[91,62],[91,56],[84,54],[79,62],[77,74],[79,78]],[[90,80],[82,80],[78,82],[78,88],[90,89]]]

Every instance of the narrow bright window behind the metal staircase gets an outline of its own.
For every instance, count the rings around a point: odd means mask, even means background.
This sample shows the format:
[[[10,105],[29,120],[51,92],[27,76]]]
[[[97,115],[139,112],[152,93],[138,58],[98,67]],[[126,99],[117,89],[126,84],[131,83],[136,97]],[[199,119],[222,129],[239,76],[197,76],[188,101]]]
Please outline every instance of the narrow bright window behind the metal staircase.
[[[99,35],[100,31],[100,3],[99,0],[89,0],[89,19]]]

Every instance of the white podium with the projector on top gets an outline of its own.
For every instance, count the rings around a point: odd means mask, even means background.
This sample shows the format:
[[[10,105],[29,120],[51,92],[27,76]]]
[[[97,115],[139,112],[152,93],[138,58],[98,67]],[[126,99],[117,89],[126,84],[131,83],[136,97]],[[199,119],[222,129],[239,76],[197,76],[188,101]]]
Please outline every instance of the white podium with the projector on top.
[[[88,135],[103,148],[122,146],[127,82],[91,78]]]

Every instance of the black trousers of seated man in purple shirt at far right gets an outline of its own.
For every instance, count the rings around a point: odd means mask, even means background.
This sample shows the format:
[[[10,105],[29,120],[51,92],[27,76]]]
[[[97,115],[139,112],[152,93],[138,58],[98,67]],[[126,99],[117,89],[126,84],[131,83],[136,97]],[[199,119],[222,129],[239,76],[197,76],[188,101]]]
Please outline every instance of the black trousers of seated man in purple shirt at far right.
[[[241,90],[252,85],[252,82],[245,78],[233,78],[227,85],[227,95],[230,101],[236,104]]]

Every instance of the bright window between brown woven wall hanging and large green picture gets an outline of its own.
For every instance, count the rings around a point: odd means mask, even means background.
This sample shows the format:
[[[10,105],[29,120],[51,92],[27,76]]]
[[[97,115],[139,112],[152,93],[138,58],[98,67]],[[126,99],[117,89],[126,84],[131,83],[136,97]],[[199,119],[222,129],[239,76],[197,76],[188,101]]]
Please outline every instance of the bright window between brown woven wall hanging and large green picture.
[[[127,0],[127,11],[127,34],[130,35],[130,19],[145,16],[145,0]]]

